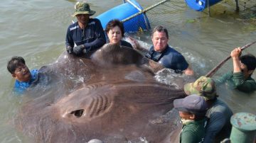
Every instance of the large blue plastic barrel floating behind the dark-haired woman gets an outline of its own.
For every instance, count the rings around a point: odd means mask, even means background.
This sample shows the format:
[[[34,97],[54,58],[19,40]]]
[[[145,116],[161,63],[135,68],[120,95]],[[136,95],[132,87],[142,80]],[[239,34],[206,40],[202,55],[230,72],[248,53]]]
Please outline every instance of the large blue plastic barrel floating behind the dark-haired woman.
[[[138,8],[142,9],[142,6],[140,6],[135,0],[129,1],[132,2],[134,6],[129,2],[126,2],[124,4],[111,8],[109,11],[106,11],[105,13],[102,13],[96,17],[100,20],[104,29],[106,28],[107,23],[112,19],[119,19],[119,21],[122,21],[125,18],[134,15],[135,13],[139,13]],[[129,21],[124,22],[124,32],[126,33],[137,32],[140,28],[142,28],[143,30],[150,29],[149,20],[144,13],[130,19]]]

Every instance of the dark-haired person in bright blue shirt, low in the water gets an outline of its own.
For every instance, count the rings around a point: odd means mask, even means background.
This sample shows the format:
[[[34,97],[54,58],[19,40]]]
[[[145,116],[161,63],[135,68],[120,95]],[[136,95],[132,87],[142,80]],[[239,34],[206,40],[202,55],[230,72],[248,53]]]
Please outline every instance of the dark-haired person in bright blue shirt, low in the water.
[[[29,71],[23,57],[12,57],[7,64],[7,69],[11,73],[11,76],[16,79],[14,84],[14,92],[18,94],[26,91],[26,88],[31,86],[32,82],[35,81],[38,74],[37,69]]]

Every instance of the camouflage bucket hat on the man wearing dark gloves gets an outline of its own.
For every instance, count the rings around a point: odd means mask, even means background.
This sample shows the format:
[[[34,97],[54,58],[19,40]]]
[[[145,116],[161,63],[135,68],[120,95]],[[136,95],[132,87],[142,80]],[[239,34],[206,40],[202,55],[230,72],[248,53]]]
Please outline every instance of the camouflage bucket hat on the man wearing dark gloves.
[[[92,16],[95,13],[96,13],[95,11],[90,10],[89,4],[87,4],[85,1],[82,1],[82,2],[77,2],[75,4],[75,13],[73,13],[72,16],[75,17],[78,14],[89,14],[90,16]]]

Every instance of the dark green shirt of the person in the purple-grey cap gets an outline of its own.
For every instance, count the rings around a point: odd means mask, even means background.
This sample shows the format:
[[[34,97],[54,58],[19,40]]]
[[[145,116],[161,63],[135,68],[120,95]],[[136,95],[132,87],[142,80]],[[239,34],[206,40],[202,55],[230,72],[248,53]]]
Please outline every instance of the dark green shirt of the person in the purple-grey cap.
[[[201,143],[206,132],[206,118],[187,122],[182,127],[181,143]]]

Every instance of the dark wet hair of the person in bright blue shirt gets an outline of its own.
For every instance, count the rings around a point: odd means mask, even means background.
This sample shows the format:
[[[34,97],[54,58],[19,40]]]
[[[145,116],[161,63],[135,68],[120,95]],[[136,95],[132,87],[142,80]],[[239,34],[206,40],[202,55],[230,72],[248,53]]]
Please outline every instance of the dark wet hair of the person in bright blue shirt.
[[[26,64],[23,57],[14,56],[11,58],[11,60],[9,60],[7,64],[7,69],[11,74],[14,74],[15,69],[21,64]]]

